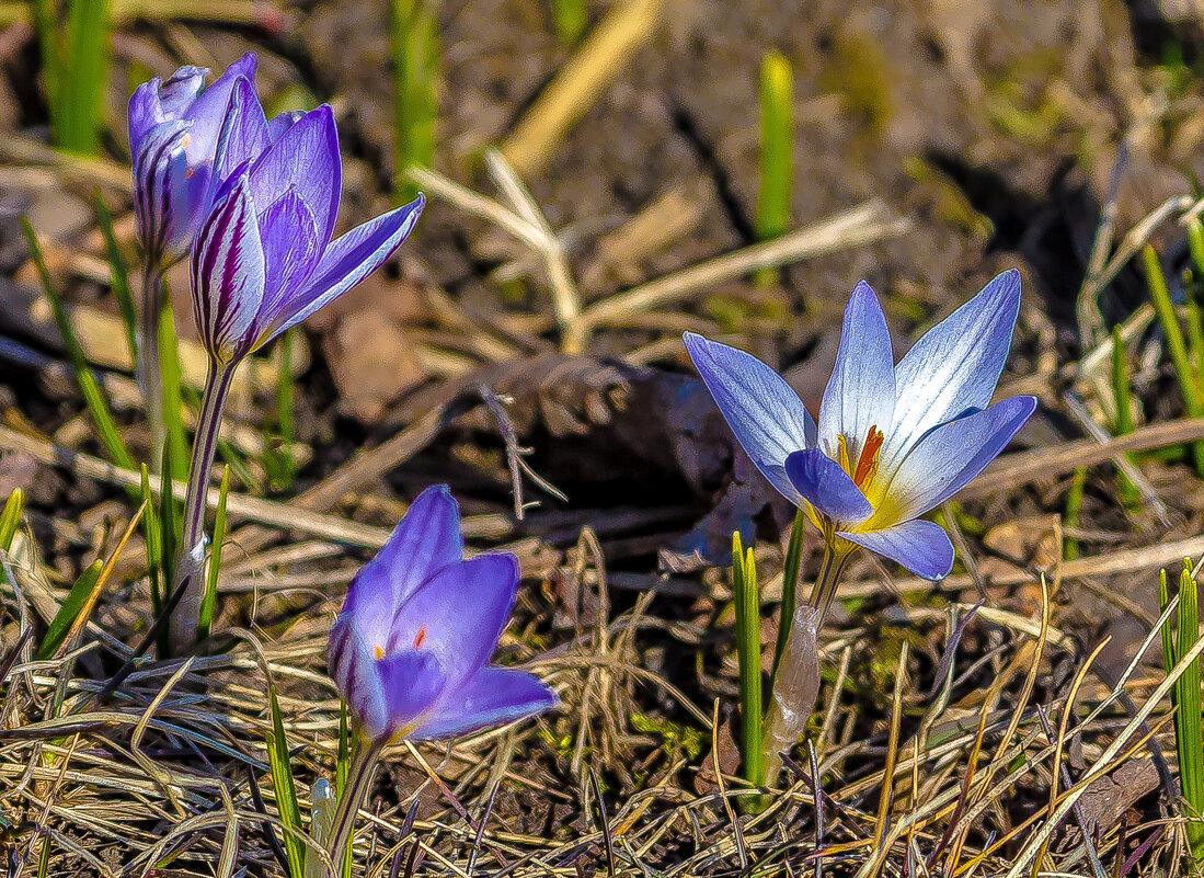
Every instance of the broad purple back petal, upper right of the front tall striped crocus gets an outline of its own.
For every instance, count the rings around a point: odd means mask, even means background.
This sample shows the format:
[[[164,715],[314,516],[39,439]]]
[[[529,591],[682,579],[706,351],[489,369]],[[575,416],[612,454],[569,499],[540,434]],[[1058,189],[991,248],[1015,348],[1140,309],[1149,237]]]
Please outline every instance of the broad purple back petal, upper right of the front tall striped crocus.
[[[267,140],[267,123],[264,137]],[[250,170],[250,190],[266,207],[295,187],[318,224],[318,240],[330,241],[338,213],[343,164],[335,113],[323,105],[302,116],[271,143]]]

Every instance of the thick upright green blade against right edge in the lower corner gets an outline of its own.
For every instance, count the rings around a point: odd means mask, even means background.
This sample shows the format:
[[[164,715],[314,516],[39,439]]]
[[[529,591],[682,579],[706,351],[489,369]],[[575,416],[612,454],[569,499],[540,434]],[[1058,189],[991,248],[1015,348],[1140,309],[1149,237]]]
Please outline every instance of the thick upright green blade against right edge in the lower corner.
[[[1179,576],[1179,618],[1175,625],[1176,658],[1199,640],[1199,590],[1191,562]],[[1193,661],[1175,680],[1178,709],[1175,739],[1179,750],[1179,779],[1187,803],[1187,843],[1197,864],[1204,862],[1204,727],[1200,725],[1200,662]]]

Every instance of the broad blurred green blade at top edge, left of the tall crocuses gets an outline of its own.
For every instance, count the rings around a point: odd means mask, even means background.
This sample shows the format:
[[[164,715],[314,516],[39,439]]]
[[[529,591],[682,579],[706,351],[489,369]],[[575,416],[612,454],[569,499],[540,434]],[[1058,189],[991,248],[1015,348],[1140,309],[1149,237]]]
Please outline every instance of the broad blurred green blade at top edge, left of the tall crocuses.
[[[64,149],[100,152],[108,82],[108,0],[69,0],[66,52],[59,71],[54,140]]]

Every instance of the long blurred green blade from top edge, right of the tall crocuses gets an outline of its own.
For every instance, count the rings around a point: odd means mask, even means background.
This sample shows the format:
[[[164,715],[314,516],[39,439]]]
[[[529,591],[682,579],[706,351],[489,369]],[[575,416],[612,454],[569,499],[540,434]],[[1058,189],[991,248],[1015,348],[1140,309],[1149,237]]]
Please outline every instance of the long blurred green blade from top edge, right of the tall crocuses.
[[[395,113],[394,191],[399,204],[418,194],[406,170],[430,167],[438,116],[439,22],[436,0],[391,0]]]

